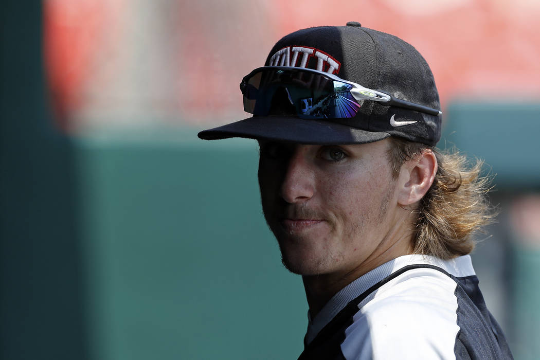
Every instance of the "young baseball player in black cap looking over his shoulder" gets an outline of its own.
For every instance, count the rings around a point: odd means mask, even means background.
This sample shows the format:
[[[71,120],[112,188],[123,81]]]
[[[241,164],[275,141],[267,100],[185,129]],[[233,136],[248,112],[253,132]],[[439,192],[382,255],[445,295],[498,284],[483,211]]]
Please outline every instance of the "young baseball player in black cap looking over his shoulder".
[[[413,46],[359,23],[296,31],[240,84],[253,117],[199,133],[260,145],[266,221],[301,274],[311,359],[508,359],[471,233],[480,164],[440,154],[438,93]]]

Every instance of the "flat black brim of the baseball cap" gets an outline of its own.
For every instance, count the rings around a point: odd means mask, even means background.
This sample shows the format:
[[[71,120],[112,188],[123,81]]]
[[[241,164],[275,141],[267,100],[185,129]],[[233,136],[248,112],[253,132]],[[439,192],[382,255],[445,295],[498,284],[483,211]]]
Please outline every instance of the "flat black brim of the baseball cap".
[[[365,131],[332,121],[283,116],[251,117],[199,133],[204,140],[248,138],[320,145],[366,144],[388,137],[386,132]]]

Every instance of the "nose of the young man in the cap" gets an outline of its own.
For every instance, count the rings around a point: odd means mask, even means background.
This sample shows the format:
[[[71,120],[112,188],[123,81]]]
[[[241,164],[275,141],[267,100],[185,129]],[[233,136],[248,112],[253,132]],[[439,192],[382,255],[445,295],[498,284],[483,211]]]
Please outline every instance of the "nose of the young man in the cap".
[[[307,149],[297,147],[285,169],[280,195],[288,203],[307,201],[315,193],[314,168]]]

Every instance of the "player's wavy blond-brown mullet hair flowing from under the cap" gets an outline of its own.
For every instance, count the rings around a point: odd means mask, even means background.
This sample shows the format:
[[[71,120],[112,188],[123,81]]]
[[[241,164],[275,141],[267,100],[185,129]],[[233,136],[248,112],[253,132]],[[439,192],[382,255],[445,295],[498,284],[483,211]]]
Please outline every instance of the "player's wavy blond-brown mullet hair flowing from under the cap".
[[[413,210],[413,252],[452,259],[473,251],[473,234],[482,232],[495,217],[486,198],[490,179],[481,177],[481,160],[468,164],[457,151],[435,148],[399,138],[389,150],[390,163],[397,177],[404,161],[413,159],[426,149],[433,151],[438,169],[433,184]]]

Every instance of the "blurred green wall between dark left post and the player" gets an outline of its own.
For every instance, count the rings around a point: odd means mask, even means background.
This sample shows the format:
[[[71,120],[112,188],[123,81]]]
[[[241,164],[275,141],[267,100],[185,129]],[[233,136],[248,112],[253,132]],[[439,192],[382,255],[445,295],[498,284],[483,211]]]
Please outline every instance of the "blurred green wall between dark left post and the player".
[[[76,153],[92,358],[300,355],[307,305],[260,210],[254,141],[120,134]]]

